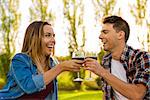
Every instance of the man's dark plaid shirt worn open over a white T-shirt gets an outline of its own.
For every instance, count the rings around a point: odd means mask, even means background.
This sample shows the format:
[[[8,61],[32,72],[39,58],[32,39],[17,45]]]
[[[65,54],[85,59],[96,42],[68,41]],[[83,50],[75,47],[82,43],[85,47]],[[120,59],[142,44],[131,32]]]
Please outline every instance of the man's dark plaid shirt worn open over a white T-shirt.
[[[104,56],[102,65],[111,72],[111,53]],[[130,46],[124,48],[120,62],[122,63],[127,76],[128,83],[144,84],[147,88],[145,100],[150,100],[150,54],[148,52],[134,50]],[[118,69],[119,70],[119,69]],[[103,80],[103,90],[106,100],[112,100],[112,87]]]

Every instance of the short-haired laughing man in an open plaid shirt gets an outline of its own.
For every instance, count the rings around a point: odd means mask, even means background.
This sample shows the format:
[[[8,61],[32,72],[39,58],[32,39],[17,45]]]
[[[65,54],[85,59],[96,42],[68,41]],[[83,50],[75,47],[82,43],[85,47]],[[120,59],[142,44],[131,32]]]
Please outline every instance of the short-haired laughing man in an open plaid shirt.
[[[85,69],[102,77],[106,100],[150,100],[150,54],[128,46],[129,33],[124,19],[106,17],[99,39],[109,54],[102,65],[91,58],[85,60]]]

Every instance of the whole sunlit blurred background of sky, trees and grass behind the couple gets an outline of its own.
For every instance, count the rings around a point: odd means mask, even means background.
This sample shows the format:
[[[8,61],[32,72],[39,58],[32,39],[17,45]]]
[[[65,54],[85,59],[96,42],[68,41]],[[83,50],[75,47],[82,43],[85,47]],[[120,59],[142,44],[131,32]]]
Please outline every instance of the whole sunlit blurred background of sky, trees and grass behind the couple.
[[[48,21],[56,34],[55,56],[71,59],[82,50],[105,54],[98,39],[101,21],[118,15],[130,25],[128,45],[150,52],[150,0],[0,0],[0,89],[7,80],[11,58],[22,48],[27,26],[35,20]],[[63,72],[58,79],[59,100],[102,100],[101,78],[85,81],[89,71],[81,70],[81,83],[73,81],[76,73]]]

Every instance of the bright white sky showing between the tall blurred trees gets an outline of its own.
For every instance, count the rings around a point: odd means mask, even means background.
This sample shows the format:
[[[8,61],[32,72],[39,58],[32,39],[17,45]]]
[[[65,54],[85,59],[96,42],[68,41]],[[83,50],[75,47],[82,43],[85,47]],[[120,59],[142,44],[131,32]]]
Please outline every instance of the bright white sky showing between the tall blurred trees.
[[[76,0],[78,1],[78,0]],[[98,20],[95,20],[95,13],[94,13],[94,6],[92,4],[92,0],[83,0],[85,4],[84,10],[84,24],[86,27],[86,43],[85,43],[85,51],[89,52],[98,52],[100,50],[100,40],[98,36],[100,35],[101,23]],[[17,41],[17,52],[20,51],[23,36],[26,27],[29,25],[30,13],[29,7],[31,6],[31,0],[20,0],[20,12],[21,16],[21,25],[19,28],[19,35]],[[134,16],[130,13],[131,12],[131,5],[136,4],[136,0],[117,0],[113,14],[118,15],[118,11],[120,11],[120,16],[124,18],[130,25],[131,28],[131,35],[128,40],[128,44],[133,46],[134,48],[144,49],[148,51],[148,43],[147,40],[147,27],[144,23],[142,27],[136,25],[136,20]],[[66,32],[67,23],[63,21],[63,3],[62,0],[49,0],[49,9],[56,15],[55,21],[52,23],[54,27],[54,31],[56,33],[56,48],[55,48],[55,55],[56,56],[66,56],[68,55],[68,38]],[[150,0],[147,0],[147,14],[145,18],[150,18]],[[99,21],[102,19],[99,16]],[[97,21],[97,22],[96,22]],[[96,24],[96,25],[95,25]],[[82,33],[81,33],[82,34]],[[144,42],[142,45],[138,39],[140,37],[141,41]],[[82,35],[78,35],[78,43],[80,45],[82,39]],[[144,46],[144,47],[143,47]]]

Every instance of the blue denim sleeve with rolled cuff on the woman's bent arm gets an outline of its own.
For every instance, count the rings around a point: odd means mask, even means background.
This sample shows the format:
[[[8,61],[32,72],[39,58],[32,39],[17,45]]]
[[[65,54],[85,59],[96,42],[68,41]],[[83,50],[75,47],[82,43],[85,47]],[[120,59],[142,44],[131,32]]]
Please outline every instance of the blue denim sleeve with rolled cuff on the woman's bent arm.
[[[12,59],[11,70],[20,88],[27,94],[46,88],[42,74],[33,74],[31,59],[27,55],[18,54]]]

